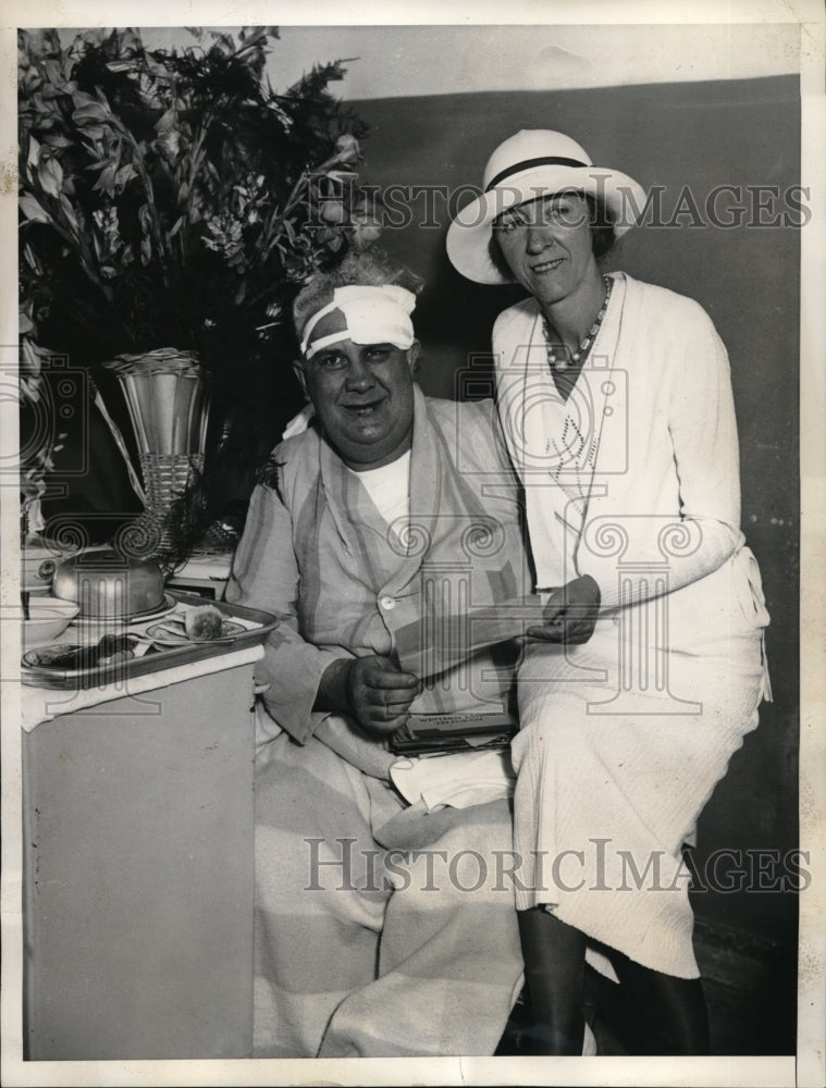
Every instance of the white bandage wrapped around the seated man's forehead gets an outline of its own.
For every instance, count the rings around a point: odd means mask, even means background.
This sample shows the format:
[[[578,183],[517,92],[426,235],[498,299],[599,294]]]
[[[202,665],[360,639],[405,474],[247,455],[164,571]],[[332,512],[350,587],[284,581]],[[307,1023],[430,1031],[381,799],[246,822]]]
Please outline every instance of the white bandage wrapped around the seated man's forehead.
[[[311,359],[322,348],[345,339],[350,339],[354,344],[393,344],[407,350],[414,342],[410,313],[415,306],[416,295],[392,283],[382,287],[336,287],[333,301],[317,310],[304,326],[301,355],[305,359]],[[346,326],[341,332],[320,336],[310,344],[312,330],[333,310],[342,311]]]

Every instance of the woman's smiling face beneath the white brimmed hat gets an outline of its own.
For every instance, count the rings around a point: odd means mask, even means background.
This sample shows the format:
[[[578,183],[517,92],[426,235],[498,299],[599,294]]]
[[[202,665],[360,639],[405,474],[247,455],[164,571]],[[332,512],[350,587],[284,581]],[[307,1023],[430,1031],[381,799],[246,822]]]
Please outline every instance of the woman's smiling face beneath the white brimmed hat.
[[[493,230],[514,277],[541,306],[559,302],[599,276],[590,208],[578,193],[560,193],[503,212]]]

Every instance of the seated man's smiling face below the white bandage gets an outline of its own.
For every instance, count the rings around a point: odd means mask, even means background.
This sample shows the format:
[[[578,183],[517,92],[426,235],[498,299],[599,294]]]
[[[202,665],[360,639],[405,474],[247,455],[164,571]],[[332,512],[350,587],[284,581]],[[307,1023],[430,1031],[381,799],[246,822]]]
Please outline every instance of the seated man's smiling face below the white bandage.
[[[326,314],[313,339],[334,329]],[[356,471],[378,469],[405,454],[412,442],[412,366],[419,345],[406,351],[393,344],[341,341],[296,368],[324,436]]]

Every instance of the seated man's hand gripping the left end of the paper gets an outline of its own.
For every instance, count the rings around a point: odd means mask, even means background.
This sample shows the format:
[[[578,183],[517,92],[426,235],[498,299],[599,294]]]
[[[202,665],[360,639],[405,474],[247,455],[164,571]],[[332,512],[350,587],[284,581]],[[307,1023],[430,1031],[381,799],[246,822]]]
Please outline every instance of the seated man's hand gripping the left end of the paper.
[[[352,714],[369,732],[383,737],[405,724],[420,691],[418,677],[402,672],[389,657],[354,657],[326,669],[316,709]]]

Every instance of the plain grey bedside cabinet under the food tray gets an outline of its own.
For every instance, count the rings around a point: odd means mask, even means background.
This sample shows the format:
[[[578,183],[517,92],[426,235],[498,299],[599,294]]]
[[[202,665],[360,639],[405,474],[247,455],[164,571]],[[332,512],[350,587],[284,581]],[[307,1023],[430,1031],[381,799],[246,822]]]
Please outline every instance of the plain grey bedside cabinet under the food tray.
[[[249,1055],[261,653],[23,732],[28,1059]]]

